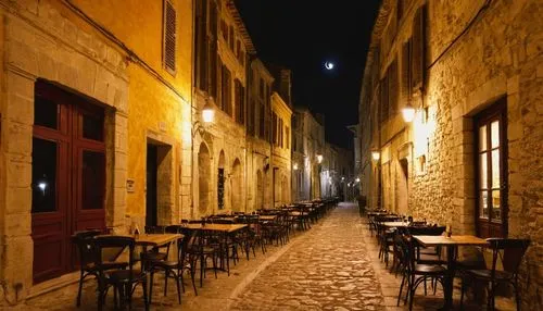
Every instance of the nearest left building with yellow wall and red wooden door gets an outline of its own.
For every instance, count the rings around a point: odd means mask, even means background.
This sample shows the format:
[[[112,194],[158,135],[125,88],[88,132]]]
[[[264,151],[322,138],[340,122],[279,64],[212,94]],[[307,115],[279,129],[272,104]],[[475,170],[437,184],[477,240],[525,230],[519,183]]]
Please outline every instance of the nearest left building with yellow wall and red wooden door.
[[[75,231],[179,219],[191,12],[178,0],[0,1],[0,304],[70,279],[58,276],[74,271]]]

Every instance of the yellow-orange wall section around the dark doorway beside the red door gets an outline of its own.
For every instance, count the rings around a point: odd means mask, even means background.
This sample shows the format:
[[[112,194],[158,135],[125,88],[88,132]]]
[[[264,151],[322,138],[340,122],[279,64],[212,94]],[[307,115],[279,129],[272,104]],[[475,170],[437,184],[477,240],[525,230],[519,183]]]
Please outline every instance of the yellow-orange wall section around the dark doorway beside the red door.
[[[190,124],[192,1],[175,0],[177,12],[176,73],[168,73],[162,62],[163,1],[73,1],[81,11],[109,29],[163,77],[175,91],[149,71],[129,63],[128,91],[128,173],[135,192],[127,194],[128,215],[139,222],[146,214],[147,138],[173,145],[173,192],[171,206],[179,210],[178,188],[181,165],[182,129]],[[190,128],[190,126],[188,127]],[[190,142],[190,141],[188,141]],[[185,146],[186,148],[186,146]]]

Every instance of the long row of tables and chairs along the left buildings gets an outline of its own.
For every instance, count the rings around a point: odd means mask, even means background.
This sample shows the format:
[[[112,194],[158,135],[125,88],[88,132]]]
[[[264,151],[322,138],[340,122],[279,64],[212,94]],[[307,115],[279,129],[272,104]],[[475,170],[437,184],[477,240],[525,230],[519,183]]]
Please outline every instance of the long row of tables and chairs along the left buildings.
[[[230,265],[243,258],[265,256],[267,246],[288,244],[293,234],[310,229],[337,204],[337,199],[327,199],[251,213],[215,214],[147,226],[144,233],[128,236],[97,229],[77,232],[72,237],[80,263],[75,304],[81,303],[84,282],[96,282],[98,310],[131,308],[132,299],[142,299],[149,310],[153,296],[168,295],[168,282],[174,283],[181,303],[186,281],[190,279],[198,296],[206,278],[217,278],[218,273],[229,276]],[[153,291],[155,282],[164,283],[163,293]],[[136,291],[137,287],[141,290]]]

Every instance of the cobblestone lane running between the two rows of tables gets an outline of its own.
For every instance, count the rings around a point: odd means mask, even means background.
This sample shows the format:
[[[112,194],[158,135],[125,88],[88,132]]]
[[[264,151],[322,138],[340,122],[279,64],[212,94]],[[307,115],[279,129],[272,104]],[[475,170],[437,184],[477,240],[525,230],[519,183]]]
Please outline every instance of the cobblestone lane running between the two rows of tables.
[[[242,293],[233,310],[382,310],[357,207],[341,203]]]

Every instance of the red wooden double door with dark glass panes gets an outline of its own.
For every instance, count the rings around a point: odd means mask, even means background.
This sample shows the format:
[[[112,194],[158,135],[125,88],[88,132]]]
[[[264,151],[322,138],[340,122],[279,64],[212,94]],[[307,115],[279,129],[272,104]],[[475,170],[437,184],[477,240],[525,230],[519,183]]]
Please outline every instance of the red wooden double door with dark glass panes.
[[[33,138],[34,282],[73,271],[75,231],[104,228],[103,109],[37,82]]]

